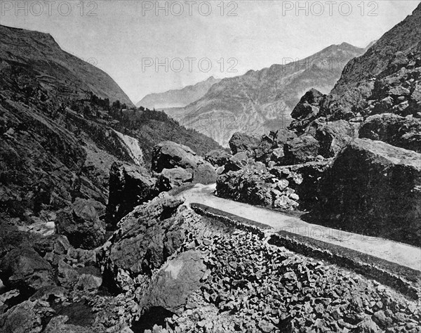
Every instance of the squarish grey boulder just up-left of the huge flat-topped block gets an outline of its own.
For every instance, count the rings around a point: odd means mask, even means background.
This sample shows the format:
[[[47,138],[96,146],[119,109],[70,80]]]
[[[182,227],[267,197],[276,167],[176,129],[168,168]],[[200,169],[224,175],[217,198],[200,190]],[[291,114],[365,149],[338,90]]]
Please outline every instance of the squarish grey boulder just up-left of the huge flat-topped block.
[[[285,159],[289,164],[310,162],[319,155],[319,141],[313,136],[299,136],[283,145]]]

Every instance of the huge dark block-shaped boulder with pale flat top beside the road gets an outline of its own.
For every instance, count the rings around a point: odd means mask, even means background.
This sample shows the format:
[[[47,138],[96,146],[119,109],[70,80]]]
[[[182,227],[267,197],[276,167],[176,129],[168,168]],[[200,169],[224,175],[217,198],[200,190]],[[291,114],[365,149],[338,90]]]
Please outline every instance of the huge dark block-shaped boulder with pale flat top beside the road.
[[[323,178],[320,221],[421,245],[421,154],[356,139]]]

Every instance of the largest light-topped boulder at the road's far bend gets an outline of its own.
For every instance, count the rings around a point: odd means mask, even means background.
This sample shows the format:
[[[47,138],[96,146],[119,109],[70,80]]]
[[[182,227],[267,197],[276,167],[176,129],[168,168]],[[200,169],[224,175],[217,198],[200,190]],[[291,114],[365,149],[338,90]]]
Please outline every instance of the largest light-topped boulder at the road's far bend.
[[[183,169],[196,169],[203,162],[203,158],[196,155],[196,152],[187,145],[173,141],[163,141],[155,145],[152,152],[152,171],[157,173],[177,166]]]

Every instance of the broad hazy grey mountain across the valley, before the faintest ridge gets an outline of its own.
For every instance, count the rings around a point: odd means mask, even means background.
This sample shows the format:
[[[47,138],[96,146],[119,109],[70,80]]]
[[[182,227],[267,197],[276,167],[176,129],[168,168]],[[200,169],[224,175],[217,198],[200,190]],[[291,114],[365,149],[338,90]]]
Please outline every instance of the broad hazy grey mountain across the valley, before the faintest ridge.
[[[310,88],[328,93],[343,67],[363,48],[332,45],[303,60],[222,79],[187,107],[166,110],[181,124],[227,146],[236,131],[266,133],[288,126],[290,112]]]

